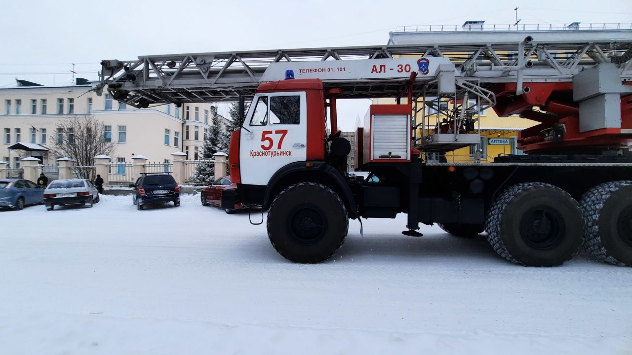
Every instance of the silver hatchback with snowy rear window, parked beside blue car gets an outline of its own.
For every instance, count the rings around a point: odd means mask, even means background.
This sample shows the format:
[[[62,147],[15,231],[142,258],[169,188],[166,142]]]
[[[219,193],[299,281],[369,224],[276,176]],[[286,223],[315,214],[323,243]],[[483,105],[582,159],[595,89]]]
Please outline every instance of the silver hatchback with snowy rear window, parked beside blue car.
[[[92,207],[99,202],[99,191],[87,179],[54,180],[44,190],[46,210],[52,211],[56,205],[70,205],[83,203],[85,207]]]

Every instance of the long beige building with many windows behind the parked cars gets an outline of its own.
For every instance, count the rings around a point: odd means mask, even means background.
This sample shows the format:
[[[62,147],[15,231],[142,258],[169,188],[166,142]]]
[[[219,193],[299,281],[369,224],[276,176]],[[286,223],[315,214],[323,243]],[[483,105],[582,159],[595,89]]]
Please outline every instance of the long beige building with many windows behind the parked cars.
[[[0,88],[0,160],[18,168],[22,157],[32,155],[42,159],[44,165],[56,164],[58,157],[52,153],[30,153],[8,147],[22,142],[50,148],[55,140],[72,134],[59,127],[64,119],[84,115],[101,121],[105,128],[103,139],[116,143],[112,162],[131,162],[133,155],[145,155],[149,162],[166,163],[173,159],[173,152],[184,152],[187,159],[198,159],[212,124],[214,107],[210,104],[136,109],[113,100],[110,95],[97,96],[90,89],[91,85]]]

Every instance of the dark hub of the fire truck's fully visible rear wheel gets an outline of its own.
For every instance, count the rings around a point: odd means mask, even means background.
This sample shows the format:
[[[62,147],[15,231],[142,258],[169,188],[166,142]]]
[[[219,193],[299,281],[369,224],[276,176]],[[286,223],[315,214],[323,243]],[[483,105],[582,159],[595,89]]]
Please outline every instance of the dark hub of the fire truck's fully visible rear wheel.
[[[557,246],[564,237],[562,215],[549,206],[532,207],[520,220],[520,236],[528,246],[547,250]]]

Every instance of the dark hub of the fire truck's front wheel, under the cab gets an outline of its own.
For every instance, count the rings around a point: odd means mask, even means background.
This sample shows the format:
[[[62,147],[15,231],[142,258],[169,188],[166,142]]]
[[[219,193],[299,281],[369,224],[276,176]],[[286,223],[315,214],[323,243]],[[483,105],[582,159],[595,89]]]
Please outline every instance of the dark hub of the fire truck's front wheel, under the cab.
[[[289,234],[296,243],[311,245],[318,243],[327,231],[324,214],[313,206],[299,206],[295,208],[288,219]]]

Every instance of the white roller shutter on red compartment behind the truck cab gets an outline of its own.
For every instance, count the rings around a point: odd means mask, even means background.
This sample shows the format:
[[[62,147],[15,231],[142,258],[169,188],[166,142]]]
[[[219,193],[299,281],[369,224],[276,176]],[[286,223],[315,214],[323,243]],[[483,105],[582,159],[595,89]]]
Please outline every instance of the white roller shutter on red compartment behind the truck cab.
[[[408,115],[374,115],[371,127],[372,159],[385,159],[380,156],[399,155],[408,159],[410,149],[410,116]],[[386,158],[387,159],[387,158]]]

